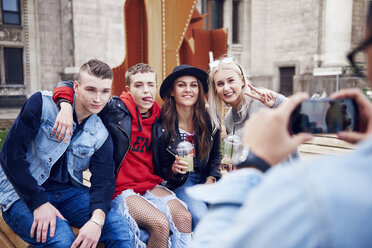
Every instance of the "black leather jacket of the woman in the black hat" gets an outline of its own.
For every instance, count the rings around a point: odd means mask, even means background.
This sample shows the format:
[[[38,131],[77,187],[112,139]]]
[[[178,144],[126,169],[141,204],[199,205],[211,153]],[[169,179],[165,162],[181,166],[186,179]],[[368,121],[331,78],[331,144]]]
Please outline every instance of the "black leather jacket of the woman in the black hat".
[[[209,120],[209,118],[208,118]],[[172,165],[175,160],[175,155],[177,154],[177,145],[182,141],[180,133],[178,131],[178,122],[175,123],[177,131],[177,140],[172,140],[168,142],[165,139],[165,130],[160,124],[160,122],[154,125],[155,136],[153,140],[158,143],[157,151],[154,152],[157,156],[158,164],[161,165],[160,174],[162,178],[168,181],[168,187],[171,189],[177,188],[184,184],[188,178],[189,173],[186,174],[173,174]],[[210,124],[210,120],[208,121]],[[209,130],[212,132],[212,125],[209,125]],[[197,157],[197,173],[203,175],[204,179],[208,176],[213,176],[217,180],[221,178],[221,170],[219,165],[221,163],[221,141],[220,141],[220,131],[218,130],[211,136],[211,146],[209,147],[208,156],[203,160],[198,158],[198,148],[195,147],[196,157]]]

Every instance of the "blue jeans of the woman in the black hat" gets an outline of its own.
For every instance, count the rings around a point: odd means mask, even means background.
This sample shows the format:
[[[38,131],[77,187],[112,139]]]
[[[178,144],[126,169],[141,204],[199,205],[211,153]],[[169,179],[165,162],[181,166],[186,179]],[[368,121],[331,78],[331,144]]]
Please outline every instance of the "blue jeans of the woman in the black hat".
[[[207,203],[205,203],[204,201],[191,198],[186,193],[186,189],[196,184],[203,184],[203,183],[205,183],[205,179],[203,176],[195,172],[190,172],[186,183],[176,188],[175,190],[173,190],[177,198],[183,201],[184,203],[186,203],[187,208],[192,215],[192,230],[195,229],[200,219],[207,213],[208,206],[207,206]]]

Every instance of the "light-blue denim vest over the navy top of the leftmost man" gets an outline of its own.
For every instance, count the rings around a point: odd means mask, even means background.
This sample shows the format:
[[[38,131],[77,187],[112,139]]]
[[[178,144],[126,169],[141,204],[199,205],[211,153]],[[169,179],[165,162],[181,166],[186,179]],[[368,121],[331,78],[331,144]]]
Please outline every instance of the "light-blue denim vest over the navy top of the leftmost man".
[[[90,159],[106,141],[109,133],[101,119],[92,114],[86,120],[84,128],[75,134],[67,143],[58,142],[51,136],[59,109],[52,100],[52,93],[43,91],[41,125],[36,138],[26,148],[25,160],[29,163],[29,171],[38,185],[42,185],[49,177],[54,163],[66,154],[68,172],[73,182],[83,185],[83,171],[89,168]],[[75,127],[74,127],[75,128]],[[1,161],[6,163],[7,161]],[[8,180],[3,168],[0,168],[0,204],[6,211],[20,197]]]

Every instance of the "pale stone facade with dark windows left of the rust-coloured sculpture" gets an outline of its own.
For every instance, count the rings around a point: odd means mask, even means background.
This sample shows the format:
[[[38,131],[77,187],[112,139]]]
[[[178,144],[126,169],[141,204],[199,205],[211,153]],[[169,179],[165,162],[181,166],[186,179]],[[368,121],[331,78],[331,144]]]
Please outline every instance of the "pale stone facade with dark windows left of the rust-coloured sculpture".
[[[0,108],[74,79],[98,58],[124,58],[124,1],[0,0]]]

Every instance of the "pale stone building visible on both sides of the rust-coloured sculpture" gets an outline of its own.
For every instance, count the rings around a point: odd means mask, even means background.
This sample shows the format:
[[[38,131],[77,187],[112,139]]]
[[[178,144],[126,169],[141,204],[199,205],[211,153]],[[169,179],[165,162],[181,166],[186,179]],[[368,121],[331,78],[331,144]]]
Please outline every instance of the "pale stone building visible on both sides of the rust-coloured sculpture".
[[[19,108],[35,91],[73,79],[90,58],[120,65],[125,57],[124,3],[0,0],[0,110]],[[255,85],[290,95],[367,85],[352,76],[345,59],[363,38],[366,4],[198,0],[196,7],[205,14],[207,29],[227,27],[228,54]]]

